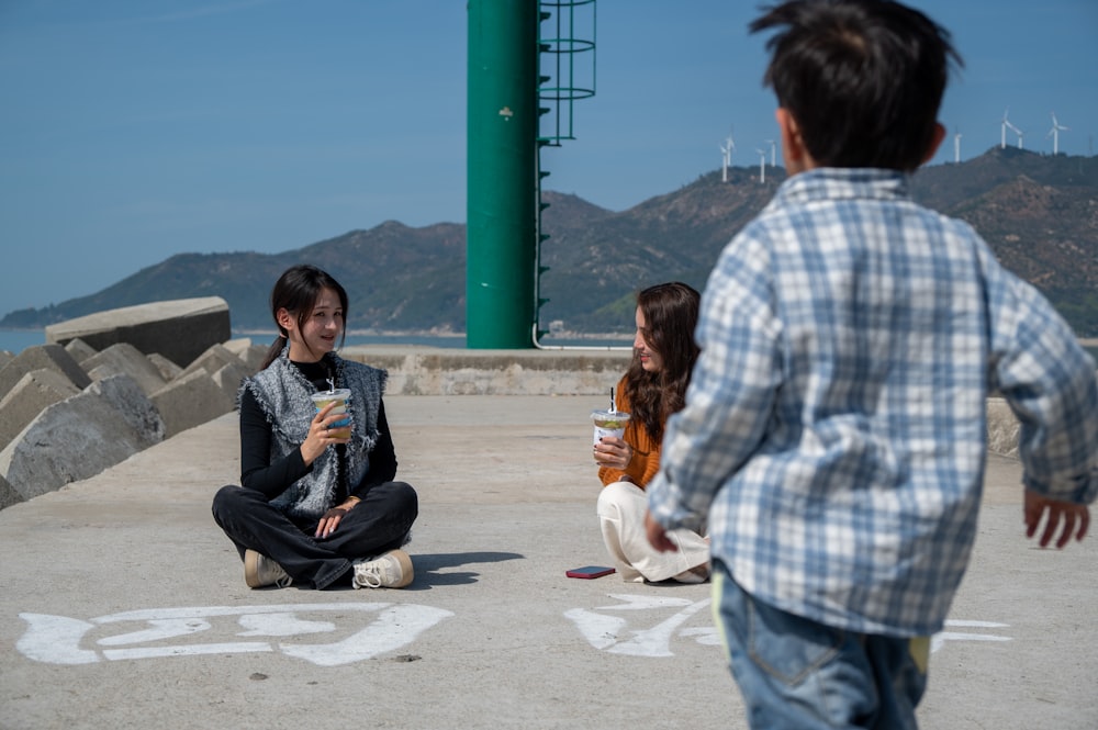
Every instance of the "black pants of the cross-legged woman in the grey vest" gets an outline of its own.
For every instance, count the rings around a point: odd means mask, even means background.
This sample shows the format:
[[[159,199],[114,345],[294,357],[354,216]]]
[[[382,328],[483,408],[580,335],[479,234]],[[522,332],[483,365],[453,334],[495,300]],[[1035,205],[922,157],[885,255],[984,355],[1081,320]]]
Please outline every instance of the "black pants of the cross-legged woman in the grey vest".
[[[404,482],[373,486],[339,521],[330,537],[313,537],[318,520],[298,524],[267,502],[260,492],[228,485],[213,497],[213,518],[236,544],[240,559],[255,550],[281,565],[294,583],[325,588],[344,576],[351,563],[404,544],[419,513],[415,490]]]

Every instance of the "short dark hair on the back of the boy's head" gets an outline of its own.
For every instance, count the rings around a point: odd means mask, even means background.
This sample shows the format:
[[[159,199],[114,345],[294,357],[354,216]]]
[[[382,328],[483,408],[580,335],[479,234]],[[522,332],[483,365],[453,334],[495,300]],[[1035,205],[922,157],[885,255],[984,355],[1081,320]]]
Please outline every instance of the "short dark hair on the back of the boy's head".
[[[792,0],[764,9],[752,33],[770,38],[763,83],[796,121],[824,167],[911,171],[934,138],[950,59],[950,33],[890,0]]]

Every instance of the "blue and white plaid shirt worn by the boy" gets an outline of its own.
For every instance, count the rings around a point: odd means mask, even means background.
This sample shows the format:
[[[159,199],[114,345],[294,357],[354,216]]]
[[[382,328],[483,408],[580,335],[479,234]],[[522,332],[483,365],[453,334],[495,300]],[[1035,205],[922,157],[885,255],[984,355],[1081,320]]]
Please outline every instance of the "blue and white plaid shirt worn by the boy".
[[[1027,486],[1098,492],[1095,363],[1049,303],[907,178],[817,169],[726,247],[649,506],[708,521],[757,598],[830,626],[941,629],[976,531],[986,405],[1022,422]]]

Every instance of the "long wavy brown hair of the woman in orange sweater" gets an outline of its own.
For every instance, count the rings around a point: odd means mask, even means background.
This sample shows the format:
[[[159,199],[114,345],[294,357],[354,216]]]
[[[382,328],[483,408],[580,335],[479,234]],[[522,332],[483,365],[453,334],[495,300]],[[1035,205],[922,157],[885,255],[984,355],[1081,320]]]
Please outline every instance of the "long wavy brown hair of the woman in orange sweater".
[[[701,300],[694,288],[681,281],[649,287],[637,294],[637,306],[645,315],[645,341],[659,353],[663,367],[648,372],[635,348],[626,372],[626,395],[632,417],[656,442],[663,438],[668,416],[686,405],[686,386],[699,352],[694,328]]]

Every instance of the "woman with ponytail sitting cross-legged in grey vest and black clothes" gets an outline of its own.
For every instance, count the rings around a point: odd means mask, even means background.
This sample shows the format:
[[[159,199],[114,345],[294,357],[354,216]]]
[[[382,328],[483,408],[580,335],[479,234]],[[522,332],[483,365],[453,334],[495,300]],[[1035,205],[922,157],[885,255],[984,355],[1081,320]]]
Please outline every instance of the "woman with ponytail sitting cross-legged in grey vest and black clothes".
[[[347,292],[321,269],[288,269],[270,304],[279,337],[239,395],[242,486],[219,490],[214,519],[249,587],[404,587],[413,566],[401,547],[418,502],[394,481],[388,374],[336,355]],[[350,391],[347,414],[334,403],[316,412],[310,396],[333,388]],[[334,431],[348,414],[350,435]]]

